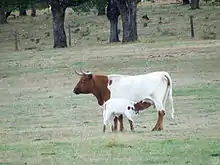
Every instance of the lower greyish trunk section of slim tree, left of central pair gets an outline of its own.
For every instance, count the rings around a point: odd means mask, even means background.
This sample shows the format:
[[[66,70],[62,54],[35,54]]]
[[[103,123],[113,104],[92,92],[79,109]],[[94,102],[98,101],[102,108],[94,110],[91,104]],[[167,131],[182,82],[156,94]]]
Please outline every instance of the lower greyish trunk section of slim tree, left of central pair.
[[[119,42],[118,37],[118,19],[110,20],[110,38],[109,42]]]

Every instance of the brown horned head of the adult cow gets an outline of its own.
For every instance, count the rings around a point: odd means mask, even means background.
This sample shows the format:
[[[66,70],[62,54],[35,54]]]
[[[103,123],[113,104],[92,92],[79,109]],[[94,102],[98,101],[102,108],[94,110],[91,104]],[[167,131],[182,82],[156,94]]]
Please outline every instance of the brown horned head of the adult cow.
[[[80,69],[80,73],[75,71],[77,75],[81,76],[80,80],[76,84],[73,92],[75,94],[88,94],[93,92],[93,75],[91,72],[84,72]]]

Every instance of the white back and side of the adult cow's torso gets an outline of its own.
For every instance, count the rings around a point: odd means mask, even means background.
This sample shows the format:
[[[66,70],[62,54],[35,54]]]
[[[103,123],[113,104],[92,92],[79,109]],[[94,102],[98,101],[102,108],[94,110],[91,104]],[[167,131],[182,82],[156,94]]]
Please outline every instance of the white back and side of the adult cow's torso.
[[[151,72],[148,74],[134,76],[112,77],[112,84],[108,85],[111,91],[110,98],[125,98],[128,100],[139,101],[151,96],[158,87],[164,86],[162,77],[167,72]]]

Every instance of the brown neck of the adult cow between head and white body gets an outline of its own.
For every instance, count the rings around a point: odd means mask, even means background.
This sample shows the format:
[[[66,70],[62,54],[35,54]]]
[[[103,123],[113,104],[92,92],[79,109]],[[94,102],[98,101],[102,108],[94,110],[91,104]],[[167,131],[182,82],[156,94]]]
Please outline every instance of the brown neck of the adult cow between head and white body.
[[[103,75],[93,76],[94,91],[93,95],[96,97],[98,104],[103,105],[105,101],[110,98],[110,91],[108,86],[108,77]]]

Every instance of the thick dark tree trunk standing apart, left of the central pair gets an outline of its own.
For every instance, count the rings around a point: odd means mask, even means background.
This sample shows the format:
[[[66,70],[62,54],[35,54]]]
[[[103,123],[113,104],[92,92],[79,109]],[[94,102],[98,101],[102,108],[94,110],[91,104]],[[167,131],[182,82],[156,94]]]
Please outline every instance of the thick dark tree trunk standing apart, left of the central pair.
[[[53,14],[53,48],[67,47],[66,33],[64,29],[65,10],[66,7],[64,6],[60,6],[59,4],[51,4],[51,11]]]

